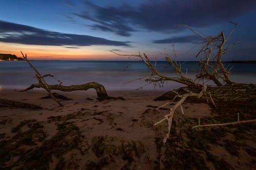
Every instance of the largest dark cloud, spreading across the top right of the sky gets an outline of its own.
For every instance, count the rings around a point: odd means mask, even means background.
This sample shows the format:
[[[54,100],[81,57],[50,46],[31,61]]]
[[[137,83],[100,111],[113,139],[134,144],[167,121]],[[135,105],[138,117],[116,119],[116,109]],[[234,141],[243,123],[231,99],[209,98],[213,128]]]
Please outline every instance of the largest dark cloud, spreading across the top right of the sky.
[[[137,8],[85,5],[86,11],[75,15],[95,22],[93,29],[130,36],[138,29],[168,33],[178,24],[203,27],[228,22],[255,9],[256,0],[151,0]]]

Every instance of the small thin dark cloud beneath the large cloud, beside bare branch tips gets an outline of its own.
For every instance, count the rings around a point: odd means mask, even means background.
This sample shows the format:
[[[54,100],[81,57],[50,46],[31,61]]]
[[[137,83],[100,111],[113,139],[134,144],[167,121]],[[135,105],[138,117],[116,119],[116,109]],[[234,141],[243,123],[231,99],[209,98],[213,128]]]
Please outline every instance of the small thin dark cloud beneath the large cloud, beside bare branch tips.
[[[170,43],[201,43],[203,39],[196,35],[187,35],[187,36],[174,36],[166,39],[159,39],[152,41],[155,44],[170,44]]]

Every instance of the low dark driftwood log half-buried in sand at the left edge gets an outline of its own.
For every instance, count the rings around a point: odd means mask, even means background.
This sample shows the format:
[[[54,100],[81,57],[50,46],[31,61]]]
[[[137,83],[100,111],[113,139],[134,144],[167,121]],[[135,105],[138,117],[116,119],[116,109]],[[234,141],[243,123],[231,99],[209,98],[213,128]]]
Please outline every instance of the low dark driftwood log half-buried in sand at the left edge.
[[[42,109],[39,105],[29,104],[25,102],[17,102],[6,99],[0,99],[0,107],[19,107],[27,109]]]

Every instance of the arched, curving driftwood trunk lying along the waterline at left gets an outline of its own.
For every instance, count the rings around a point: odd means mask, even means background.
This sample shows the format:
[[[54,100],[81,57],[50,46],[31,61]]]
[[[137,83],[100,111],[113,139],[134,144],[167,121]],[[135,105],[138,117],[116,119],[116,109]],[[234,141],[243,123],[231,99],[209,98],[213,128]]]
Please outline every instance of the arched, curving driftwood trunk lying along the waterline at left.
[[[33,88],[45,88],[42,83],[30,85],[28,88],[21,91],[31,90]],[[108,100],[115,99],[114,97],[109,97],[107,91],[103,85],[98,84],[97,82],[90,82],[83,85],[48,85],[50,90],[60,90],[60,91],[76,91],[76,90],[88,90],[94,88],[97,92],[98,100]]]

